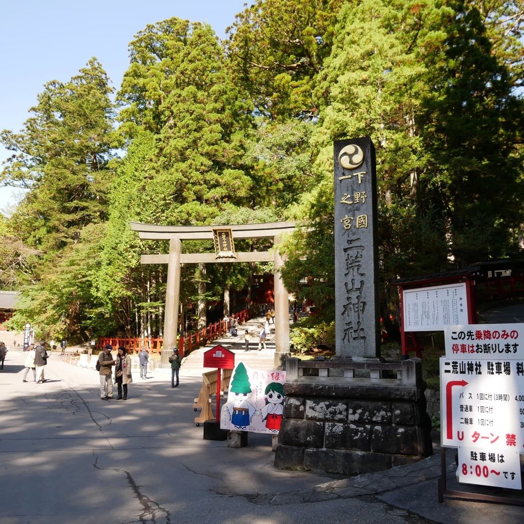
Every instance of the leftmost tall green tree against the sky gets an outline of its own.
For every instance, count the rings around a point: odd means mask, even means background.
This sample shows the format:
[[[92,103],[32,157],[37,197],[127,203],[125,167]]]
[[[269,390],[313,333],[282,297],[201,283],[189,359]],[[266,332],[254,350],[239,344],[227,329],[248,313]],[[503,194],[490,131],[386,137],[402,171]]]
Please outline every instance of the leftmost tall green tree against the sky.
[[[56,252],[77,242],[83,226],[105,218],[113,133],[112,89],[91,59],[69,82],[51,81],[21,133],[4,130],[15,154],[0,178],[30,191],[13,222],[31,247]]]

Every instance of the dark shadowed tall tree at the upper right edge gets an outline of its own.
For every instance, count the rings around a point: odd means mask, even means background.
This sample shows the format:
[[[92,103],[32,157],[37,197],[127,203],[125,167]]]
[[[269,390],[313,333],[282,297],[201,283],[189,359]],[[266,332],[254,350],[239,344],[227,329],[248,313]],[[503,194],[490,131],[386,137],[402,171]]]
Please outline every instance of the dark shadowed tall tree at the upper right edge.
[[[441,60],[420,122],[431,156],[431,190],[450,223],[457,264],[497,258],[515,250],[522,212],[524,106],[512,94],[481,13],[459,1],[446,19]]]

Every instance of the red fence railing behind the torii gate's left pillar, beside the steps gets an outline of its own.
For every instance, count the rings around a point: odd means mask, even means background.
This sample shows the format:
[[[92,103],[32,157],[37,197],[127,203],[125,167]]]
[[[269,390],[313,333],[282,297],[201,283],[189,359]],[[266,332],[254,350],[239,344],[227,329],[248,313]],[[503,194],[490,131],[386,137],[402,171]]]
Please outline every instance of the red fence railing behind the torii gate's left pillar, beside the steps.
[[[242,311],[231,315],[231,318],[236,318],[239,324],[243,324],[246,320],[249,320],[249,314],[247,309],[242,309]],[[219,320],[213,324],[208,324],[202,329],[179,335],[177,346],[180,356],[183,358],[184,355],[189,355],[194,349],[198,349],[219,338],[224,333],[227,333],[229,329],[230,323],[228,321]],[[97,340],[96,348],[102,349],[107,344],[111,344],[113,348],[124,346],[128,351],[139,350],[142,346],[154,353],[159,353],[163,349],[162,337],[101,337]]]

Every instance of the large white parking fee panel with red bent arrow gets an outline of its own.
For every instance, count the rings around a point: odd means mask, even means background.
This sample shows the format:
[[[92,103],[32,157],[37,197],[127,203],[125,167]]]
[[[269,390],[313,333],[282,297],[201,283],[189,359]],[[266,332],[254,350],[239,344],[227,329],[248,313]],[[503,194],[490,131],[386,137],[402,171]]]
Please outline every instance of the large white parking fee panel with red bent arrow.
[[[524,360],[440,359],[441,444],[524,453]]]

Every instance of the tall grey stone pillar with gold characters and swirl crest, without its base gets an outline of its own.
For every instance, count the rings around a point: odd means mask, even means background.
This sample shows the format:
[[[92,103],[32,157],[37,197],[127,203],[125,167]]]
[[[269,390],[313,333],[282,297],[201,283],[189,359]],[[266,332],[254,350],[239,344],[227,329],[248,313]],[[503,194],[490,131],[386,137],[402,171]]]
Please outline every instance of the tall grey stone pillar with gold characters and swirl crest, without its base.
[[[337,357],[380,354],[377,179],[371,138],[334,143]]]

